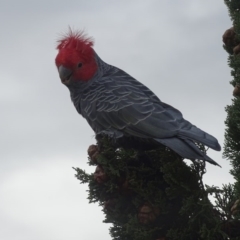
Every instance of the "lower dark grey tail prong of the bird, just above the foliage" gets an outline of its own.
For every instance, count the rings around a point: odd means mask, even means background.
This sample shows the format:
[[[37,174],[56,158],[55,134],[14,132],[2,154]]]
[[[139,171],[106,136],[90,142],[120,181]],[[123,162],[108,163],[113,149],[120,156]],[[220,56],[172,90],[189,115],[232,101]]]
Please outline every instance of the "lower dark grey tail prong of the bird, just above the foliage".
[[[171,148],[183,158],[205,160],[213,165],[221,167],[206,153],[202,152],[191,140],[179,138],[155,139],[157,142]]]

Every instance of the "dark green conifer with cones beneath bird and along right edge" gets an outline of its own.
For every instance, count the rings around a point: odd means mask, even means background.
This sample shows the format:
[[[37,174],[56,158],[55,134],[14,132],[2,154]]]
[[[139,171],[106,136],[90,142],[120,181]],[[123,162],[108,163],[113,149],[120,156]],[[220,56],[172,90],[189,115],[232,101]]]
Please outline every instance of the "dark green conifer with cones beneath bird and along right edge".
[[[240,2],[225,3],[233,28],[223,41],[236,97],[226,107],[224,156],[236,183],[221,189],[204,185],[205,162],[186,164],[165,146],[143,149],[126,142],[128,147],[116,147],[107,137],[98,139],[88,150],[95,172],[75,168],[76,177],[88,183],[89,202],[99,203],[104,222],[113,224],[114,240],[240,240]],[[199,148],[205,151],[201,144]]]

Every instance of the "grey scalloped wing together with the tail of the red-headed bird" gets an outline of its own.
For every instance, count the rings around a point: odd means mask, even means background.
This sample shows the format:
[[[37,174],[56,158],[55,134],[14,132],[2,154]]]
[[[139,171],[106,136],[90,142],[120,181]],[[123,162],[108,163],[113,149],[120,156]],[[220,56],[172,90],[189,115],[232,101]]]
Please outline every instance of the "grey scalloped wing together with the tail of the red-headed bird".
[[[87,89],[81,105],[82,115],[96,133],[116,130],[124,135],[152,138],[183,157],[207,161],[213,160],[191,140],[220,150],[214,137],[193,126],[180,111],[161,102],[146,86],[116,68]]]

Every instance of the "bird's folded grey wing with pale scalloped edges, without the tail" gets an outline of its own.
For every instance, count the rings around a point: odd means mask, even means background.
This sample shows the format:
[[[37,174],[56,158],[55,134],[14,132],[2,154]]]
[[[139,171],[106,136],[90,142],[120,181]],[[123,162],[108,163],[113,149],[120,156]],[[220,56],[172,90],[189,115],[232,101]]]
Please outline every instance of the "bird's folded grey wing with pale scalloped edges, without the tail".
[[[141,138],[168,138],[191,124],[146,86],[113,69],[83,93],[81,108],[96,133],[115,129]]]

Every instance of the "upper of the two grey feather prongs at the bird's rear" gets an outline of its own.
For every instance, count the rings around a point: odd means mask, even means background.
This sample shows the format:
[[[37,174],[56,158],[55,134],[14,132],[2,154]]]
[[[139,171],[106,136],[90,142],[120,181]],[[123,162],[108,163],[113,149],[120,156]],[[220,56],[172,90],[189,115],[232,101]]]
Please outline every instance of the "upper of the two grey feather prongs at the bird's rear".
[[[221,146],[219,145],[219,143],[215,137],[202,131],[201,129],[197,128],[196,126],[192,126],[191,129],[189,129],[189,130],[181,129],[178,132],[178,136],[185,140],[191,139],[196,142],[202,143],[216,151],[221,150]]]

